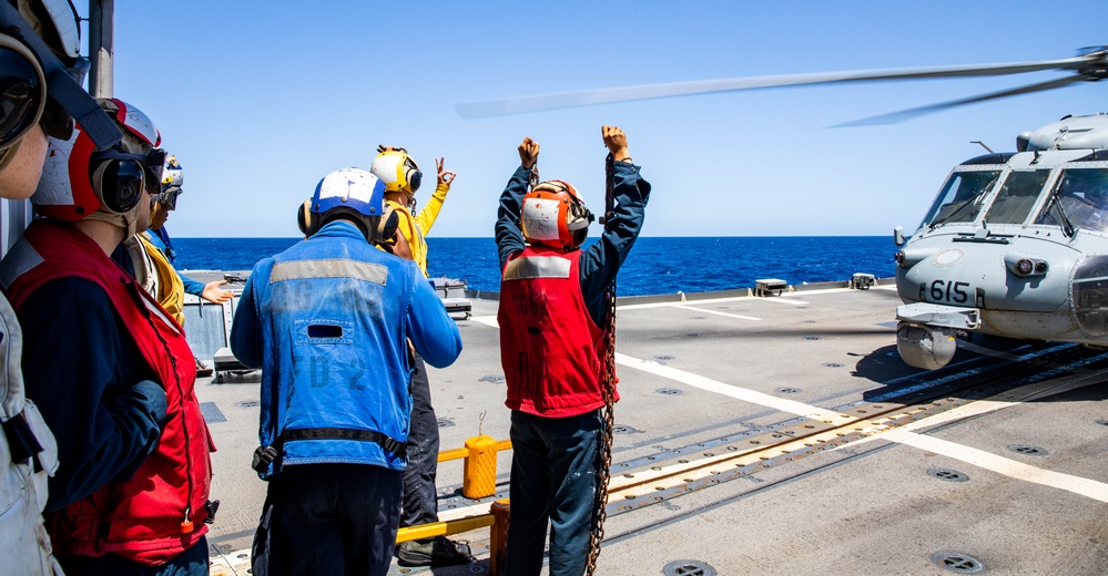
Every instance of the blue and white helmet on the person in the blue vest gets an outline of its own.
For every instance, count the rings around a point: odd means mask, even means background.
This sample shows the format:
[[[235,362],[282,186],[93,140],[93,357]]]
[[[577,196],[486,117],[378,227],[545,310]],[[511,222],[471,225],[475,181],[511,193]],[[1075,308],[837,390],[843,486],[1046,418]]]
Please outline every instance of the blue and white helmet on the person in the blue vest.
[[[370,241],[384,209],[385,183],[360,168],[342,168],[324,176],[308,207],[321,226],[345,216],[358,224]]]

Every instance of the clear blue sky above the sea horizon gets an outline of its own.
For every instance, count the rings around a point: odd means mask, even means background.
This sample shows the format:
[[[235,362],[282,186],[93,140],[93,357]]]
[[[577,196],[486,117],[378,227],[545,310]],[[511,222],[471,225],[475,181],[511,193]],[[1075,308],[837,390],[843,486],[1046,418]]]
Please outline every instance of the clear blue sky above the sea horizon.
[[[80,1],[78,3],[81,3]],[[311,8],[308,8],[311,7]],[[85,10],[82,7],[82,12]],[[174,236],[293,237],[328,172],[378,144],[458,173],[431,235],[491,236],[523,136],[539,169],[603,202],[602,124],[628,133],[654,193],[648,236],[886,235],[913,229],[949,169],[1021,131],[1108,112],[1108,82],[912,121],[875,114],[1057,78],[759,90],[462,120],[458,102],[731,76],[1069,58],[1108,43],[1108,2],[115,3],[116,97],[185,168]],[[593,234],[599,227],[593,225]]]

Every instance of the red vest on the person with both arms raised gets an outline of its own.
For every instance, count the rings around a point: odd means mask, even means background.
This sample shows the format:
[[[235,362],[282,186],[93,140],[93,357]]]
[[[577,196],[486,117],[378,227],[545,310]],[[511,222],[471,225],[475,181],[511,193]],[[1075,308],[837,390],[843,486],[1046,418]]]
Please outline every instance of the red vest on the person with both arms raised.
[[[505,264],[497,321],[512,410],[568,418],[604,405],[608,339],[585,306],[580,256],[529,246]]]

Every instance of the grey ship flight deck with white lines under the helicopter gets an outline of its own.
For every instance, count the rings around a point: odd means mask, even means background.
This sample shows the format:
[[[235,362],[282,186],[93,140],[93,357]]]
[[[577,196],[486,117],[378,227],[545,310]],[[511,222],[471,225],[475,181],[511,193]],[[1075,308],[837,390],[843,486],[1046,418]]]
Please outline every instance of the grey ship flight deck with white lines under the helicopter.
[[[620,300],[597,574],[1104,574],[1108,351],[978,336],[922,371],[897,354],[892,282],[851,285]],[[508,439],[497,302],[470,301],[461,357],[429,373],[444,451]],[[218,448],[213,574],[250,567],[258,380],[197,385]],[[480,500],[440,463],[440,518],[488,514],[510,461]],[[489,528],[450,537],[472,564],[390,574],[489,574]]]

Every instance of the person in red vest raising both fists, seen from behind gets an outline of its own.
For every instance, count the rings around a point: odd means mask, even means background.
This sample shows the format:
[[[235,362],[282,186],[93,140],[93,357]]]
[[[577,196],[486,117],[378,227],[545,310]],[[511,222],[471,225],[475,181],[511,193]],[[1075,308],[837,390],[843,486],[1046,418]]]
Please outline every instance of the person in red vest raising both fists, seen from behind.
[[[601,367],[604,295],[642,228],[650,184],[631,163],[627,136],[602,128],[612,154],[616,207],[603,236],[581,249],[592,215],[561,181],[528,192],[539,145],[525,138],[520,167],[500,195],[500,359],[511,409],[511,524],[502,572],[585,573],[604,422]],[[525,243],[526,239],[526,243]]]

